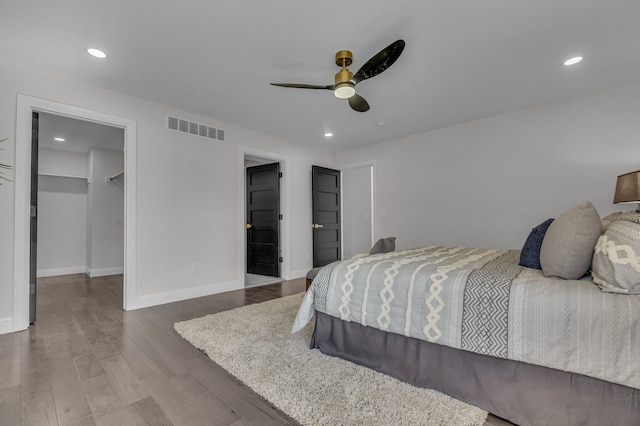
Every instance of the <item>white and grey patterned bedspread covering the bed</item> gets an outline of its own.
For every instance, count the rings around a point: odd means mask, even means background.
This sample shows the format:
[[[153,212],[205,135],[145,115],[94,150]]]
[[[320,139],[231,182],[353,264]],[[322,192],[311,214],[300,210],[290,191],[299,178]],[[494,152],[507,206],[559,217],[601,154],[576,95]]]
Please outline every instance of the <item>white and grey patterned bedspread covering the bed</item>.
[[[640,389],[640,295],[545,278],[519,251],[424,247],[323,268],[292,331],[315,310],[345,321]]]

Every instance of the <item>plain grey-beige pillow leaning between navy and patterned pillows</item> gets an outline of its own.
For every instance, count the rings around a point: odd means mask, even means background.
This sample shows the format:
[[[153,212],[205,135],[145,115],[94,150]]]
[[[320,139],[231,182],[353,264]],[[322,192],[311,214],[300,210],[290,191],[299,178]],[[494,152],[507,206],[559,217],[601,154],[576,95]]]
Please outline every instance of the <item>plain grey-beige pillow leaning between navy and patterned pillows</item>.
[[[540,265],[546,277],[581,278],[591,265],[593,248],[602,234],[600,215],[586,201],[554,220],[540,247]]]

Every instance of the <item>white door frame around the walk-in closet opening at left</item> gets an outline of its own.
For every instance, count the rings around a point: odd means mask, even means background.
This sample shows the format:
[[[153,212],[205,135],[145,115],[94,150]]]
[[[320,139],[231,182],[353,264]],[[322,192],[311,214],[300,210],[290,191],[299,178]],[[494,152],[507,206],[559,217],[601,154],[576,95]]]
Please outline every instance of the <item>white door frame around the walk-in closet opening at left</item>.
[[[124,289],[123,309],[136,301],[136,122],[127,118],[18,93],[14,167],[15,226],[13,331],[29,327],[29,217],[31,185],[31,114],[45,112],[124,129]]]

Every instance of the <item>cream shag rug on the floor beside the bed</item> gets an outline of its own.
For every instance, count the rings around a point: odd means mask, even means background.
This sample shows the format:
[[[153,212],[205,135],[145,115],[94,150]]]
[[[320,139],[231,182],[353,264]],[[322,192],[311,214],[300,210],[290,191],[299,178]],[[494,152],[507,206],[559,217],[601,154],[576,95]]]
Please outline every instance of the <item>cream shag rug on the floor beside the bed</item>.
[[[303,293],[178,322],[176,331],[303,425],[482,425],[487,412],[309,349]]]

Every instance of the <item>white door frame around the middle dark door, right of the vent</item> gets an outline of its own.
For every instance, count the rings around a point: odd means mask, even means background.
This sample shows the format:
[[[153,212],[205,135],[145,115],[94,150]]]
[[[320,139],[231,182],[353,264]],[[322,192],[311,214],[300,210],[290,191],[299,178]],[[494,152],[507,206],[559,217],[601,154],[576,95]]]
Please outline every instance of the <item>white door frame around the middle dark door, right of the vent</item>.
[[[238,282],[244,283],[245,271],[247,269],[247,238],[246,228],[247,223],[247,207],[245,202],[246,193],[246,171],[244,167],[245,157],[258,157],[272,163],[280,163],[280,172],[282,173],[282,180],[280,181],[280,214],[282,214],[282,220],[280,221],[280,252],[282,253],[282,263],[280,265],[280,278],[288,280],[291,277],[291,206],[289,200],[291,199],[291,179],[289,176],[289,164],[290,158],[286,155],[277,154],[275,152],[263,151],[260,149],[250,148],[246,146],[238,147],[238,211],[242,212],[239,219],[241,221],[237,224],[238,229]],[[244,287],[244,285],[243,285]]]

